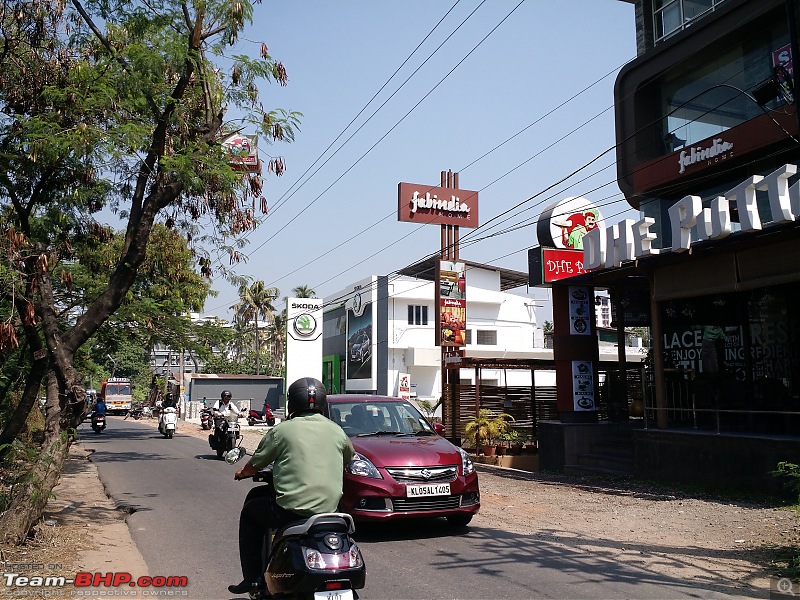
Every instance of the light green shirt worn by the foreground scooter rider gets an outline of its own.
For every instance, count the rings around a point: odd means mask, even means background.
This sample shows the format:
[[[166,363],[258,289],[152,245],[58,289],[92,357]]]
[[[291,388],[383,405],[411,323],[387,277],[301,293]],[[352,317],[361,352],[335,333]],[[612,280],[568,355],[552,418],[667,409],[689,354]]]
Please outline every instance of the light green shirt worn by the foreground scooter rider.
[[[311,516],[336,511],[344,466],[353,454],[350,438],[341,427],[319,413],[309,413],[265,433],[250,464],[261,469],[274,462],[278,504]]]

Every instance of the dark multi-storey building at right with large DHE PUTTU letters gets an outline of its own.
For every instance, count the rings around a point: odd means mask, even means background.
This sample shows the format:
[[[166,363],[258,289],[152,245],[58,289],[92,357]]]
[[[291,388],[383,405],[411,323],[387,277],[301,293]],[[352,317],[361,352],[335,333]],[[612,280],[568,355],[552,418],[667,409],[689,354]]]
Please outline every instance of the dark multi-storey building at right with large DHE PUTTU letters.
[[[637,476],[764,490],[778,461],[800,462],[794,4],[636,2],[615,106],[641,219],[587,238],[591,272],[572,283],[651,328]]]

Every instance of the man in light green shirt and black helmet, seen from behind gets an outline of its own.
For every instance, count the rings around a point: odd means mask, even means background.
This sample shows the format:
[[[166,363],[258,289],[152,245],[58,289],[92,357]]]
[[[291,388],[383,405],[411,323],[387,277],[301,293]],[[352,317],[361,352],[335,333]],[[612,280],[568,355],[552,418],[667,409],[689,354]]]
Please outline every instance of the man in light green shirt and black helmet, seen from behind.
[[[327,392],[312,377],[302,377],[286,394],[287,420],[268,430],[235,479],[250,477],[273,463],[273,485],[250,490],[239,515],[239,560],[243,580],[232,594],[265,590],[269,530],[290,521],[335,512],[342,497],[344,465],[353,445],[341,427],[324,415]]]

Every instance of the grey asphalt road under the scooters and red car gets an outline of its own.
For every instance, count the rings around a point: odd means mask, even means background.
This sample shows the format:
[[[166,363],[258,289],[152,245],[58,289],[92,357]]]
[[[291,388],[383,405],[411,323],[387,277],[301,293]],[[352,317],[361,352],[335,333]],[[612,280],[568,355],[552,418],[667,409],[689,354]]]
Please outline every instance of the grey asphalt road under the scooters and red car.
[[[83,429],[107,492],[132,513],[150,574],[187,576],[188,598],[229,598],[227,585],[241,578],[238,517],[251,484],[234,481],[233,466],[180,429],[167,440],[121,417],[101,435]],[[504,531],[480,515],[464,529],[444,520],[360,525],[356,540],[367,563],[364,600],[729,597],[570,551],[563,540]]]

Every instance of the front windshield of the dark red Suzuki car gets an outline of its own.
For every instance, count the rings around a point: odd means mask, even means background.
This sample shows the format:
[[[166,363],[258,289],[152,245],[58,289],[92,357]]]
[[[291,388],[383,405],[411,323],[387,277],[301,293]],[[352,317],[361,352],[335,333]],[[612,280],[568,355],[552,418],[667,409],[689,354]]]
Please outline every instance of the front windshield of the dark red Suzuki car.
[[[350,437],[368,435],[434,435],[430,423],[404,400],[336,402],[329,405],[330,418]]]

